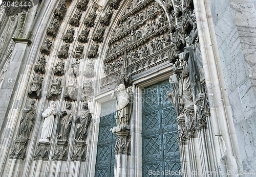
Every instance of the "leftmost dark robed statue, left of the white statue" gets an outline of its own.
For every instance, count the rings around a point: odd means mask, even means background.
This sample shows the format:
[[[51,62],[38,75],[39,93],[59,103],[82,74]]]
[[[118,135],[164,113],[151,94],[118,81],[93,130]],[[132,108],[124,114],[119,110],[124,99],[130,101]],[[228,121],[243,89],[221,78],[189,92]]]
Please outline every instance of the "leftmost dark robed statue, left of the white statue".
[[[33,128],[35,119],[35,100],[31,99],[29,106],[22,110],[20,119],[19,138],[29,139],[29,133]]]

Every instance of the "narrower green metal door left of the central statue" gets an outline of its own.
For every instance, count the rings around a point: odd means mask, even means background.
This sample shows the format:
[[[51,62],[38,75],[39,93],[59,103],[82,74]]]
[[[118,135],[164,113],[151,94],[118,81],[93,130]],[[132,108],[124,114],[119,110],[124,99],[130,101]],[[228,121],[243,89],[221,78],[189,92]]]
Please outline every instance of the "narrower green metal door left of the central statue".
[[[115,124],[115,100],[101,104],[95,176],[114,176],[116,135],[110,132]]]

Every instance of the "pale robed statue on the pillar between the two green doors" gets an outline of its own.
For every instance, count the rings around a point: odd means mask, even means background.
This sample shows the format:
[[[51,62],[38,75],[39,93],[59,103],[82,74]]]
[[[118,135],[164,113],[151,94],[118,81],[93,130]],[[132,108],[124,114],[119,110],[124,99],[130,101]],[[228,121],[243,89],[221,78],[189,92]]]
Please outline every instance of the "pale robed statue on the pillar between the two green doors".
[[[114,127],[110,130],[112,133],[130,130],[129,120],[133,107],[133,92],[131,88],[128,88],[128,91],[126,91],[123,84],[118,86],[118,90],[120,91],[118,94],[116,94],[116,91],[112,93],[112,98],[116,98],[117,102],[117,112],[115,116],[117,127]]]

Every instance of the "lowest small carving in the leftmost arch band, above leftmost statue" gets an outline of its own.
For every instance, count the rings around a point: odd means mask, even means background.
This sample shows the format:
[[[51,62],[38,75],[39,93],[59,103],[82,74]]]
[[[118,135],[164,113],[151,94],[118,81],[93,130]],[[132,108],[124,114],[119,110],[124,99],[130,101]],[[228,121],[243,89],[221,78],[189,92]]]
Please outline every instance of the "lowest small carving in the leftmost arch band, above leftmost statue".
[[[40,74],[36,73],[34,75],[33,81],[30,84],[30,89],[28,96],[33,99],[39,99],[41,97],[41,87],[42,87],[42,80],[43,78],[41,77]]]

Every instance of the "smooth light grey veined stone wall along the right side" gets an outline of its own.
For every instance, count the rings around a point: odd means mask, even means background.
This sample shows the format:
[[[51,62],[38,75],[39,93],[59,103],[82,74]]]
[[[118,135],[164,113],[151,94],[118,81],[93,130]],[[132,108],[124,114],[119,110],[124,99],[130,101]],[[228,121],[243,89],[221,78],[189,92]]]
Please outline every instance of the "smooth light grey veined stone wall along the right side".
[[[256,170],[256,1],[209,2],[243,169]]]

